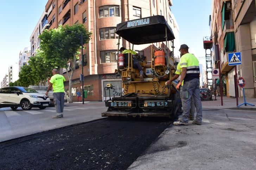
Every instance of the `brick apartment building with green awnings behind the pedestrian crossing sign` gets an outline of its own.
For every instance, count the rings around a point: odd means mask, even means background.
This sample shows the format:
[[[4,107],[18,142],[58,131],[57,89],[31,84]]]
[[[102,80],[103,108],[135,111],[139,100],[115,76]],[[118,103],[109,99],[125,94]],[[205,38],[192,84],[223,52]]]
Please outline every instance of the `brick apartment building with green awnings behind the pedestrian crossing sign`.
[[[256,96],[256,4],[255,0],[213,0],[211,36],[219,44],[224,94],[235,97],[235,68],[228,65],[228,54],[241,52],[238,77],[246,81],[245,95]],[[218,68],[218,65],[215,65]],[[239,96],[242,89],[239,88]]]

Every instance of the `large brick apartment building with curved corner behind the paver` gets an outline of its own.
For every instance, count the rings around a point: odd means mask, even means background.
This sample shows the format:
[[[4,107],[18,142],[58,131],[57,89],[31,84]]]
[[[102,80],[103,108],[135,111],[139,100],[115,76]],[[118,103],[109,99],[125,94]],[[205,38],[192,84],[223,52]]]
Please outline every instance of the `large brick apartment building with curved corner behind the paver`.
[[[116,90],[121,92],[121,79],[116,77],[114,71],[117,67],[115,55],[117,53],[116,25],[120,22],[139,19],[142,17],[163,15],[173,29],[176,39],[174,40],[174,55],[179,58],[179,28],[171,13],[172,0],[49,0],[45,6],[44,15],[39,20],[39,33],[44,29],[54,29],[62,25],[83,23],[92,33],[91,40],[85,44],[84,54],[84,90],[88,91],[85,100],[104,100],[104,86],[111,83]],[[34,41],[33,34],[31,36]],[[40,42],[40,40],[38,40]],[[123,47],[132,48],[132,44],[121,39]],[[163,43],[146,45],[134,45],[134,50],[140,51],[149,57],[151,45],[162,47]],[[167,47],[171,49],[171,42]],[[33,53],[32,53],[33,54]],[[76,101],[76,91],[82,89],[79,80],[81,74],[81,56],[77,61],[76,70],[72,80],[73,101]],[[60,70],[66,78],[65,90],[68,90],[68,78],[66,70]],[[110,94],[113,96],[113,93]],[[108,94],[107,94],[108,96]]]

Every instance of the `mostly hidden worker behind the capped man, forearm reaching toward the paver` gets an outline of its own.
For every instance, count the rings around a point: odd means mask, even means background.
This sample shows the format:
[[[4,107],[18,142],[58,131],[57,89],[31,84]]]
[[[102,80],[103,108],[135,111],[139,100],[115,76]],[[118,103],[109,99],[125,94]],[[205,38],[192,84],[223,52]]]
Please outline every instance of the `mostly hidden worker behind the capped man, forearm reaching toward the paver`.
[[[176,80],[181,73],[181,69],[180,69],[180,63],[178,63],[176,71],[175,71],[175,75],[173,76],[173,78],[171,78],[170,80],[168,80],[166,82],[166,85],[171,84],[174,80]],[[184,82],[184,81],[183,81]],[[182,94],[182,86],[183,86],[183,82],[181,83],[181,87],[180,87],[180,94]],[[179,89],[178,89],[179,90]],[[182,98],[181,98],[181,102],[182,102]],[[191,104],[190,104],[190,112],[188,115],[188,120],[194,120],[194,114],[195,114],[195,105],[194,105],[194,100],[193,97],[191,97]],[[180,118],[179,118],[180,119]]]

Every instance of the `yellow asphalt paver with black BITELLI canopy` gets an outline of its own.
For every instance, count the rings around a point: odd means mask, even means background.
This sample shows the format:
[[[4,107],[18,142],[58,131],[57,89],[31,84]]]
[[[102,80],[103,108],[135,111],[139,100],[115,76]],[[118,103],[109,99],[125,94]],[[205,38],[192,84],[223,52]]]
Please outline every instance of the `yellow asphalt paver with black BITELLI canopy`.
[[[172,29],[169,27],[164,16],[156,15],[131,20],[117,24],[116,34],[118,49],[120,49],[120,37],[135,45],[174,40]],[[181,111],[179,91],[175,84],[166,85],[166,81],[175,74],[173,52],[168,48],[149,47],[150,56],[139,56],[137,60],[144,71],[143,80],[140,79],[138,69],[132,62],[134,57],[131,53],[122,54],[119,50],[116,55],[116,73],[121,74],[122,92],[105,101],[107,112],[102,116],[125,116],[125,117],[168,117],[174,118]],[[169,54],[168,54],[169,53]],[[148,59],[146,59],[148,58]],[[177,84],[177,82],[176,82]],[[116,91],[115,87],[107,84],[106,91]]]

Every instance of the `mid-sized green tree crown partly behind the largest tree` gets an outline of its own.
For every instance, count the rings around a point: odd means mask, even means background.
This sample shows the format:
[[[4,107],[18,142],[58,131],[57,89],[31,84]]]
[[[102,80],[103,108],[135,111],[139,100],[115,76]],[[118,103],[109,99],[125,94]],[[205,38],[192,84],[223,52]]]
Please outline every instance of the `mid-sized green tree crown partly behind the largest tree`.
[[[47,82],[51,77],[52,69],[54,68],[52,63],[46,59],[42,50],[37,50],[36,56],[30,57],[28,64],[31,66],[34,82],[36,84],[43,84]]]

